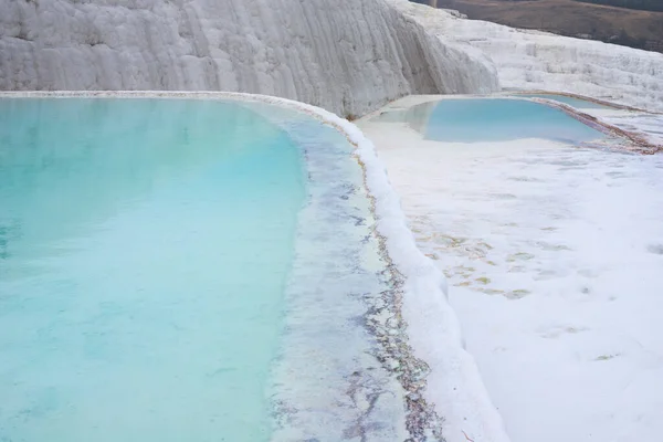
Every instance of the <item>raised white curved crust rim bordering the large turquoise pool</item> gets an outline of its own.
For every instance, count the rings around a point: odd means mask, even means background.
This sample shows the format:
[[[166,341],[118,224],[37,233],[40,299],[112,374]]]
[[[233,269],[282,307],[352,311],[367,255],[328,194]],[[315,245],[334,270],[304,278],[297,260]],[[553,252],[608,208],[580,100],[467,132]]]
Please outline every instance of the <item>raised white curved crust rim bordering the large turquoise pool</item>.
[[[19,92],[1,93],[0,97],[162,97],[199,99],[260,101],[306,113],[344,134],[356,147],[362,166],[366,186],[373,201],[377,233],[383,241],[385,253],[393,264],[392,271],[401,294],[401,309],[413,357],[428,366],[428,378],[443,388],[410,390],[421,379],[402,379],[408,394],[408,408],[442,418],[442,435],[446,442],[508,442],[504,424],[492,404],[472,356],[465,351],[460,324],[446,299],[446,280],[440,270],[417,248],[408,228],[400,200],[387,177],[373,144],[357,126],[319,107],[273,96],[242,93],[188,92]],[[417,362],[414,364],[417,365]],[[441,382],[440,382],[441,381]],[[424,382],[425,383],[425,382]],[[421,396],[421,397],[419,397]],[[414,421],[417,415],[411,417]],[[430,419],[422,417],[423,421]],[[434,419],[434,418],[433,418]],[[424,422],[429,423],[430,422]],[[410,429],[412,431],[412,429]],[[420,440],[420,439],[417,439]],[[423,439],[421,439],[423,440]]]

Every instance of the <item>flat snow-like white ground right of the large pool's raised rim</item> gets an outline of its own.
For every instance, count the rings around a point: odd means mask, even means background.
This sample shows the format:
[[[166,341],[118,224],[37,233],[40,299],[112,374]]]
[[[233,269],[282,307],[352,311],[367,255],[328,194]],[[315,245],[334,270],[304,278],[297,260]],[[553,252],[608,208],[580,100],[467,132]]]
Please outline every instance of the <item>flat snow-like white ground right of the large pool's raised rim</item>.
[[[663,157],[360,127],[509,438],[661,440]]]

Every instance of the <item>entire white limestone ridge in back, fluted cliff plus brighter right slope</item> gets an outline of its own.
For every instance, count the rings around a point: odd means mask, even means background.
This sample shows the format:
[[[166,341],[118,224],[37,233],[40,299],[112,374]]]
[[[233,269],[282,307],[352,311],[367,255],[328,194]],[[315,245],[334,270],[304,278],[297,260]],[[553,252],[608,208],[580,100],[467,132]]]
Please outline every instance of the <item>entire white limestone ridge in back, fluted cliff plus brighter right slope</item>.
[[[407,0],[0,0],[6,91],[239,91],[358,116],[499,86],[661,110],[663,54]]]

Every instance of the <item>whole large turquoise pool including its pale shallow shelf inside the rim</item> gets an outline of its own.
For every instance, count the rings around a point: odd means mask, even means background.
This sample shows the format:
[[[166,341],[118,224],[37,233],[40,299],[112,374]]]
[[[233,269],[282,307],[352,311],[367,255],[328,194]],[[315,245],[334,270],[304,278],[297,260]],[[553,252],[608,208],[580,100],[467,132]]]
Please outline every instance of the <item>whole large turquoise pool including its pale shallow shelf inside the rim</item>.
[[[367,366],[397,431],[351,149],[256,103],[0,99],[0,440],[266,441],[293,402],[334,438],[360,411],[319,424],[320,386]]]

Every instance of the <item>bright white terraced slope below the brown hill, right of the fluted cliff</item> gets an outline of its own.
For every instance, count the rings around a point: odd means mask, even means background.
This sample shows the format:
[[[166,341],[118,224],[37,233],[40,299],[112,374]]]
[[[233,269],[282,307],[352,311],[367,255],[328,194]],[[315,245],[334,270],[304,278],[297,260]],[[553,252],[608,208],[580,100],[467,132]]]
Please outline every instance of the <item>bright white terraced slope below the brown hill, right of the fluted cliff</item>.
[[[431,32],[453,35],[491,56],[502,87],[576,93],[663,110],[661,53],[464,20],[444,11],[418,14],[427,14]]]

